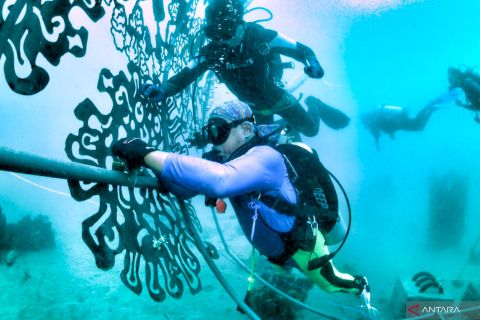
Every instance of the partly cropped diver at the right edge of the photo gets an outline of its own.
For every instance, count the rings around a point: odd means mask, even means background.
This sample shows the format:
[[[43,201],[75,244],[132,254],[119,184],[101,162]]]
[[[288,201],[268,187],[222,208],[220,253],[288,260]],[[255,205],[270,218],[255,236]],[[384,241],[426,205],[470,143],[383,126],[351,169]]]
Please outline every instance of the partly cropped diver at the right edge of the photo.
[[[450,90],[460,88],[465,93],[466,103],[456,100],[458,106],[475,112],[475,121],[480,123],[480,71],[473,68],[448,68]]]

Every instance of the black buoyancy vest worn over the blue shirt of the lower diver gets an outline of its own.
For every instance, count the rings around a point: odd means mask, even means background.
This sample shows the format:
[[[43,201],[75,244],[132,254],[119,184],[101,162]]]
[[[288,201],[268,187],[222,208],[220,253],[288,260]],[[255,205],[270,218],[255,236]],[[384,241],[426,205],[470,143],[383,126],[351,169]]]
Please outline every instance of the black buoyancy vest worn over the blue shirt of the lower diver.
[[[254,139],[237,149],[228,160],[240,157],[258,145],[269,145],[282,154],[290,182],[296,191],[297,203],[291,204],[258,192],[252,193],[252,199],[258,199],[280,213],[295,216],[295,226],[285,235],[286,240],[294,242],[297,248],[313,250],[315,239],[312,227],[318,226],[318,230],[326,235],[340,220],[338,197],[330,173],[321,163],[317,152],[299,142],[272,144],[261,138]]]

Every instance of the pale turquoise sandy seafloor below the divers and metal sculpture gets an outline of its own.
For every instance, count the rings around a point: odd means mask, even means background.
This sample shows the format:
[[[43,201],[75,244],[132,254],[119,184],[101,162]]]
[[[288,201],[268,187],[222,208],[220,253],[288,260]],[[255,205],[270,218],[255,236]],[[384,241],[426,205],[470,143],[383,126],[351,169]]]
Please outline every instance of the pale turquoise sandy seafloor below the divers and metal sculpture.
[[[226,258],[211,216],[208,212],[202,214],[199,216],[204,227],[203,234],[220,251],[217,265],[238,295],[243,297],[248,275]],[[248,262],[250,247],[240,234],[233,213],[221,215],[220,222],[230,248]],[[247,319],[235,310],[236,304],[202,258],[200,277],[203,290],[200,293],[192,295],[187,290],[181,299],[168,297],[164,302],[156,303],[149,298],[145,289],[142,295],[137,296],[122,284],[119,277],[123,263],[121,257],[112,270],[105,272],[97,269],[93,255],[78,240],[81,239],[80,224],[78,228],[75,228],[75,224],[73,226],[72,229],[56,232],[56,249],[25,253],[11,267],[0,264],[0,319]],[[421,266],[428,266],[427,270],[438,279],[448,280],[453,278],[452,270],[462,270],[465,266],[463,250],[421,250],[421,254],[417,255],[417,251],[406,244],[405,251],[398,248],[397,251],[389,251],[391,247],[388,244],[396,241],[395,237],[383,239],[383,245],[376,246],[376,240],[372,238],[369,241],[367,236],[365,241],[372,252],[365,255],[354,245],[357,237],[354,232],[349,245],[337,257],[336,266],[340,270],[354,274],[362,272],[369,277],[372,302],[380,309],[383,319],[394,318],[390,302],[397,277],[408,279],[422,271]],[[363,233],[362,237],[365,237]],[[262,263],[261,259],[257,265],[260,272],[276,272]],[[478,279],[476,272],[479,267],[478,264],[467,264],[461,278]],[[306,303],[338,319],[365,319],[338,307],[358,308],[360,301],[353,296],[329,295],[313,288]],[[322,317],[303,311],[300,318]]]

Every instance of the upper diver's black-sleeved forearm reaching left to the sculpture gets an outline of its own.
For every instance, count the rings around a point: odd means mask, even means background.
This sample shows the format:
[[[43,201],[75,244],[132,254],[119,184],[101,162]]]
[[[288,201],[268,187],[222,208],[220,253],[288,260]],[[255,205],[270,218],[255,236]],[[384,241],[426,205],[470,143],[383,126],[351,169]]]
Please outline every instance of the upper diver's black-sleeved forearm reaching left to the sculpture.
[[[183,68],[179,73],[172,76],[162,84],[165,97],[171,97],[188,87],[193,81],[207,71],[207,63],[204,57],[196,58]]]

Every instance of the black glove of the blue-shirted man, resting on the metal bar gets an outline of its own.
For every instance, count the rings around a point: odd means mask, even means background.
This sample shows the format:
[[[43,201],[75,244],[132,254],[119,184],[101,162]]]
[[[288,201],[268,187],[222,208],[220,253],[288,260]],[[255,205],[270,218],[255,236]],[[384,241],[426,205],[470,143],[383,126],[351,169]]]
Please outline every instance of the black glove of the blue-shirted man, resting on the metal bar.
[[[145,165],[145,156],[156,150],[140,138],[123,138],[112,145],[112,155],[125,161],[129,170]]]

